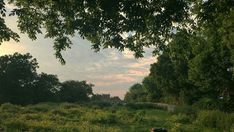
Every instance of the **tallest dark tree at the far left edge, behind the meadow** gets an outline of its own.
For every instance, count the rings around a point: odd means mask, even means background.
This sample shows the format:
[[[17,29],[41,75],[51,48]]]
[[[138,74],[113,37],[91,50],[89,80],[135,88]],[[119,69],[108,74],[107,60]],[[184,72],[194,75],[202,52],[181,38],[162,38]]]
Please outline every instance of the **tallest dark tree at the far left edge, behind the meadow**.
[[[30,54],[0,57],[0,103],[33,103],[32,89],[38,63]]]

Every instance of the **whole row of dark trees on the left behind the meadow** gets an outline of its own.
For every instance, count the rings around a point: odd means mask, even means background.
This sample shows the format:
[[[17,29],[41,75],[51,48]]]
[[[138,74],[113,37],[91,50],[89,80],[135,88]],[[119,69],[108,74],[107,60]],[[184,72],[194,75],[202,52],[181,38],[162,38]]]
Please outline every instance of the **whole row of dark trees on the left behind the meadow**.
[[[82,102],[92,97],[93,84],[60,82],[56,75],[37,73],[38,63],[30,54],[0,56],[0,104]]]

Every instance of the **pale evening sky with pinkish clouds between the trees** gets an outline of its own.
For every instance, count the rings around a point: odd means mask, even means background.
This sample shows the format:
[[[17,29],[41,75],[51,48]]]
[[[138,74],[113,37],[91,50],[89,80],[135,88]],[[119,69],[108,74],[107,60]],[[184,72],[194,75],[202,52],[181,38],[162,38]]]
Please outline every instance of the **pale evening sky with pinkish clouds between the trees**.
[[[6,5],[9,10],[11,5]],[[141,82],[149,74],[150,64],[156,62],[152,57],[152,49],[145,49],[143,58],[136,59],[133,53],[125,50],[103,49],[96,53],[91,49],[91,43],[76,35],[71,38],[71,49],[63,52],[66,60],[61,65],[55,58],[53,40],[38,35],[37,40],[32,41],[26,34],[20,33],[17,28],[17,18],[7,17],[7,25],[20,35],[20,42],[9,41],[0,45],[0,56],[6,54],[30,53],[39,63],[38,73],[45,72],[56,74],[60,81],[86,80],[95,85],[94,93],[110,94],[123,99],[128,89]]]

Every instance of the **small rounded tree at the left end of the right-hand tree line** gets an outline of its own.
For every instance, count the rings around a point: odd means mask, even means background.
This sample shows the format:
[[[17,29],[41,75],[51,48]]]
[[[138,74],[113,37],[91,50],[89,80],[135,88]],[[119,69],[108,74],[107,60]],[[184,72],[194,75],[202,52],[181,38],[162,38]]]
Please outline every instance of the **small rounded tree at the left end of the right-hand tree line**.
[[[124,96],[126,102],[145,102],[147,101],[146,89],[139,83],[131,86],[129,91]]]

